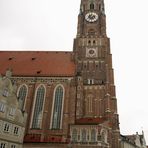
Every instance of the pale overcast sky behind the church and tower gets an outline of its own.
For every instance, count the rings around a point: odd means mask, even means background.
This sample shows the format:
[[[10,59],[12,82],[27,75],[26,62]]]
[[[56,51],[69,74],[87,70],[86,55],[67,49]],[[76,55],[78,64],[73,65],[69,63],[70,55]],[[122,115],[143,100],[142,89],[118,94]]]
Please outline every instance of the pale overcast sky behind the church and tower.
[[[1,50],[72,50],[80,0],[0,0]],[[148,1],[105,0],[122,134],[148,143]]]

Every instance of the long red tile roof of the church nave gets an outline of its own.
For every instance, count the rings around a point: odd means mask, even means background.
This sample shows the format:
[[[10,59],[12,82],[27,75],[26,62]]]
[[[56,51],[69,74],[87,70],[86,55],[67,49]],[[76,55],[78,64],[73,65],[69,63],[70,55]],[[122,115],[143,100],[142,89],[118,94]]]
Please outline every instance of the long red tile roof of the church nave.
[[[13,76],[73,76],[72,52],[0,51],[0,73]]]

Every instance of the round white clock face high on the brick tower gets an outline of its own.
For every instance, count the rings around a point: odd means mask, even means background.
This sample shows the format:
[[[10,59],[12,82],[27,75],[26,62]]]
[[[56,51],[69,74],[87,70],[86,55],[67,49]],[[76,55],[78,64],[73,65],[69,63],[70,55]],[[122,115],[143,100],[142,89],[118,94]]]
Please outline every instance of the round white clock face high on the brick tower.
[[[98,15],[95,12],[89,12],[85,15],[86,21],[93,23],[98,20]]]

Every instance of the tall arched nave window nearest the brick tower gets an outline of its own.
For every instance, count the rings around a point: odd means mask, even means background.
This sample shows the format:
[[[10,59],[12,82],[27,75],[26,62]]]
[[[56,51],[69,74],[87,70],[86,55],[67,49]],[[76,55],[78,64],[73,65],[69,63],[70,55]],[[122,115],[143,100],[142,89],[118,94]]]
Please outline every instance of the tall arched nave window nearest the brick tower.
[[[54,91],[51,129],[62,128],[63,103],[64,103],[64,89],[61,85],[59,85],[55,88]]]

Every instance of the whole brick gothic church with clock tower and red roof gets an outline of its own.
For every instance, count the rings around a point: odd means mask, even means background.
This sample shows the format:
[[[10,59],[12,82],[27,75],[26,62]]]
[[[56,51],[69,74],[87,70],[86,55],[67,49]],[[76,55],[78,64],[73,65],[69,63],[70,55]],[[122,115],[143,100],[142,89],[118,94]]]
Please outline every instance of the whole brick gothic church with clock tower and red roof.
[[[27,112],[24,147],[119,148],[120,130],[103,0],[81,0],[73,52],[1,51]]]

